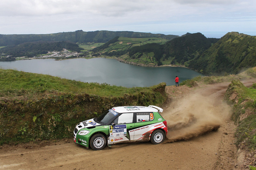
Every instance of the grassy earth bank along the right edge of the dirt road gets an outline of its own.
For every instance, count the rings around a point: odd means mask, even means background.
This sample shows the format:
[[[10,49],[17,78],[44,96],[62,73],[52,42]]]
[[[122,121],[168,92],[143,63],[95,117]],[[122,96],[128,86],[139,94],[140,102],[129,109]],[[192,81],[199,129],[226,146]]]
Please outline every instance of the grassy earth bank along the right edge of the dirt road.
[[[256,67],[254,68],[256,73]],[[235,130],[238,153],[244,152],[243,169],[255,169],[256,157],[256,83],[245,87],[239,80],[228,86],[226,100],[233,105],[232,118],[237,124]]]

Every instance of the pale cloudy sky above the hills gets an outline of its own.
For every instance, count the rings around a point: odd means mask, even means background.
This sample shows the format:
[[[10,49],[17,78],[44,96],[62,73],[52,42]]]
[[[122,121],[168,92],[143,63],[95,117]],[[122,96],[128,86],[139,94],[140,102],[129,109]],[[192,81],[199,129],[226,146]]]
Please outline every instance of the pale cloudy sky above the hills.
[[[256,35],[255,0],[1,0],[0,34],[135,31]]]

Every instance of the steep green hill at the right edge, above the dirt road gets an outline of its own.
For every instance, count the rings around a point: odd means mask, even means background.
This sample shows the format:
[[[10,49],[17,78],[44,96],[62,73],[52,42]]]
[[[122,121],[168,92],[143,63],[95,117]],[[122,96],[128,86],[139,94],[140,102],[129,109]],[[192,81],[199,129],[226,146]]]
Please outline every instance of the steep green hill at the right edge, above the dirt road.
[[[256,66],[256,36],[229,32],[208,50],[191,60],[189,68],[204,74],[237,74]]]

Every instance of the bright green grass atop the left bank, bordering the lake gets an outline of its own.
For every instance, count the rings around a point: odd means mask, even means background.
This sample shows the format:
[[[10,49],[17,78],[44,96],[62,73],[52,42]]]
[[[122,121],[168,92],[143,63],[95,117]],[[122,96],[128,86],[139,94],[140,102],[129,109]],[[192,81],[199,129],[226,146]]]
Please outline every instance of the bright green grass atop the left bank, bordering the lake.
[[[44,74],[0,69],[0,97],[33,96],[42,93],[87,93],[99,96],[120,96],[150,88],[126,88],[108,84],[83,83]]]

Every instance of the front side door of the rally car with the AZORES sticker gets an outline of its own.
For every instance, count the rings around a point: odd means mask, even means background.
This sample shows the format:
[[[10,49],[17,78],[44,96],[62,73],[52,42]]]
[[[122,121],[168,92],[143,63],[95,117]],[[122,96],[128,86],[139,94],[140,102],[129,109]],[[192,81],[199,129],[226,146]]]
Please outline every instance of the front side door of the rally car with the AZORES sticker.
[[[134,113],[122,113],[109,125],[109,144],[134,140]]]

